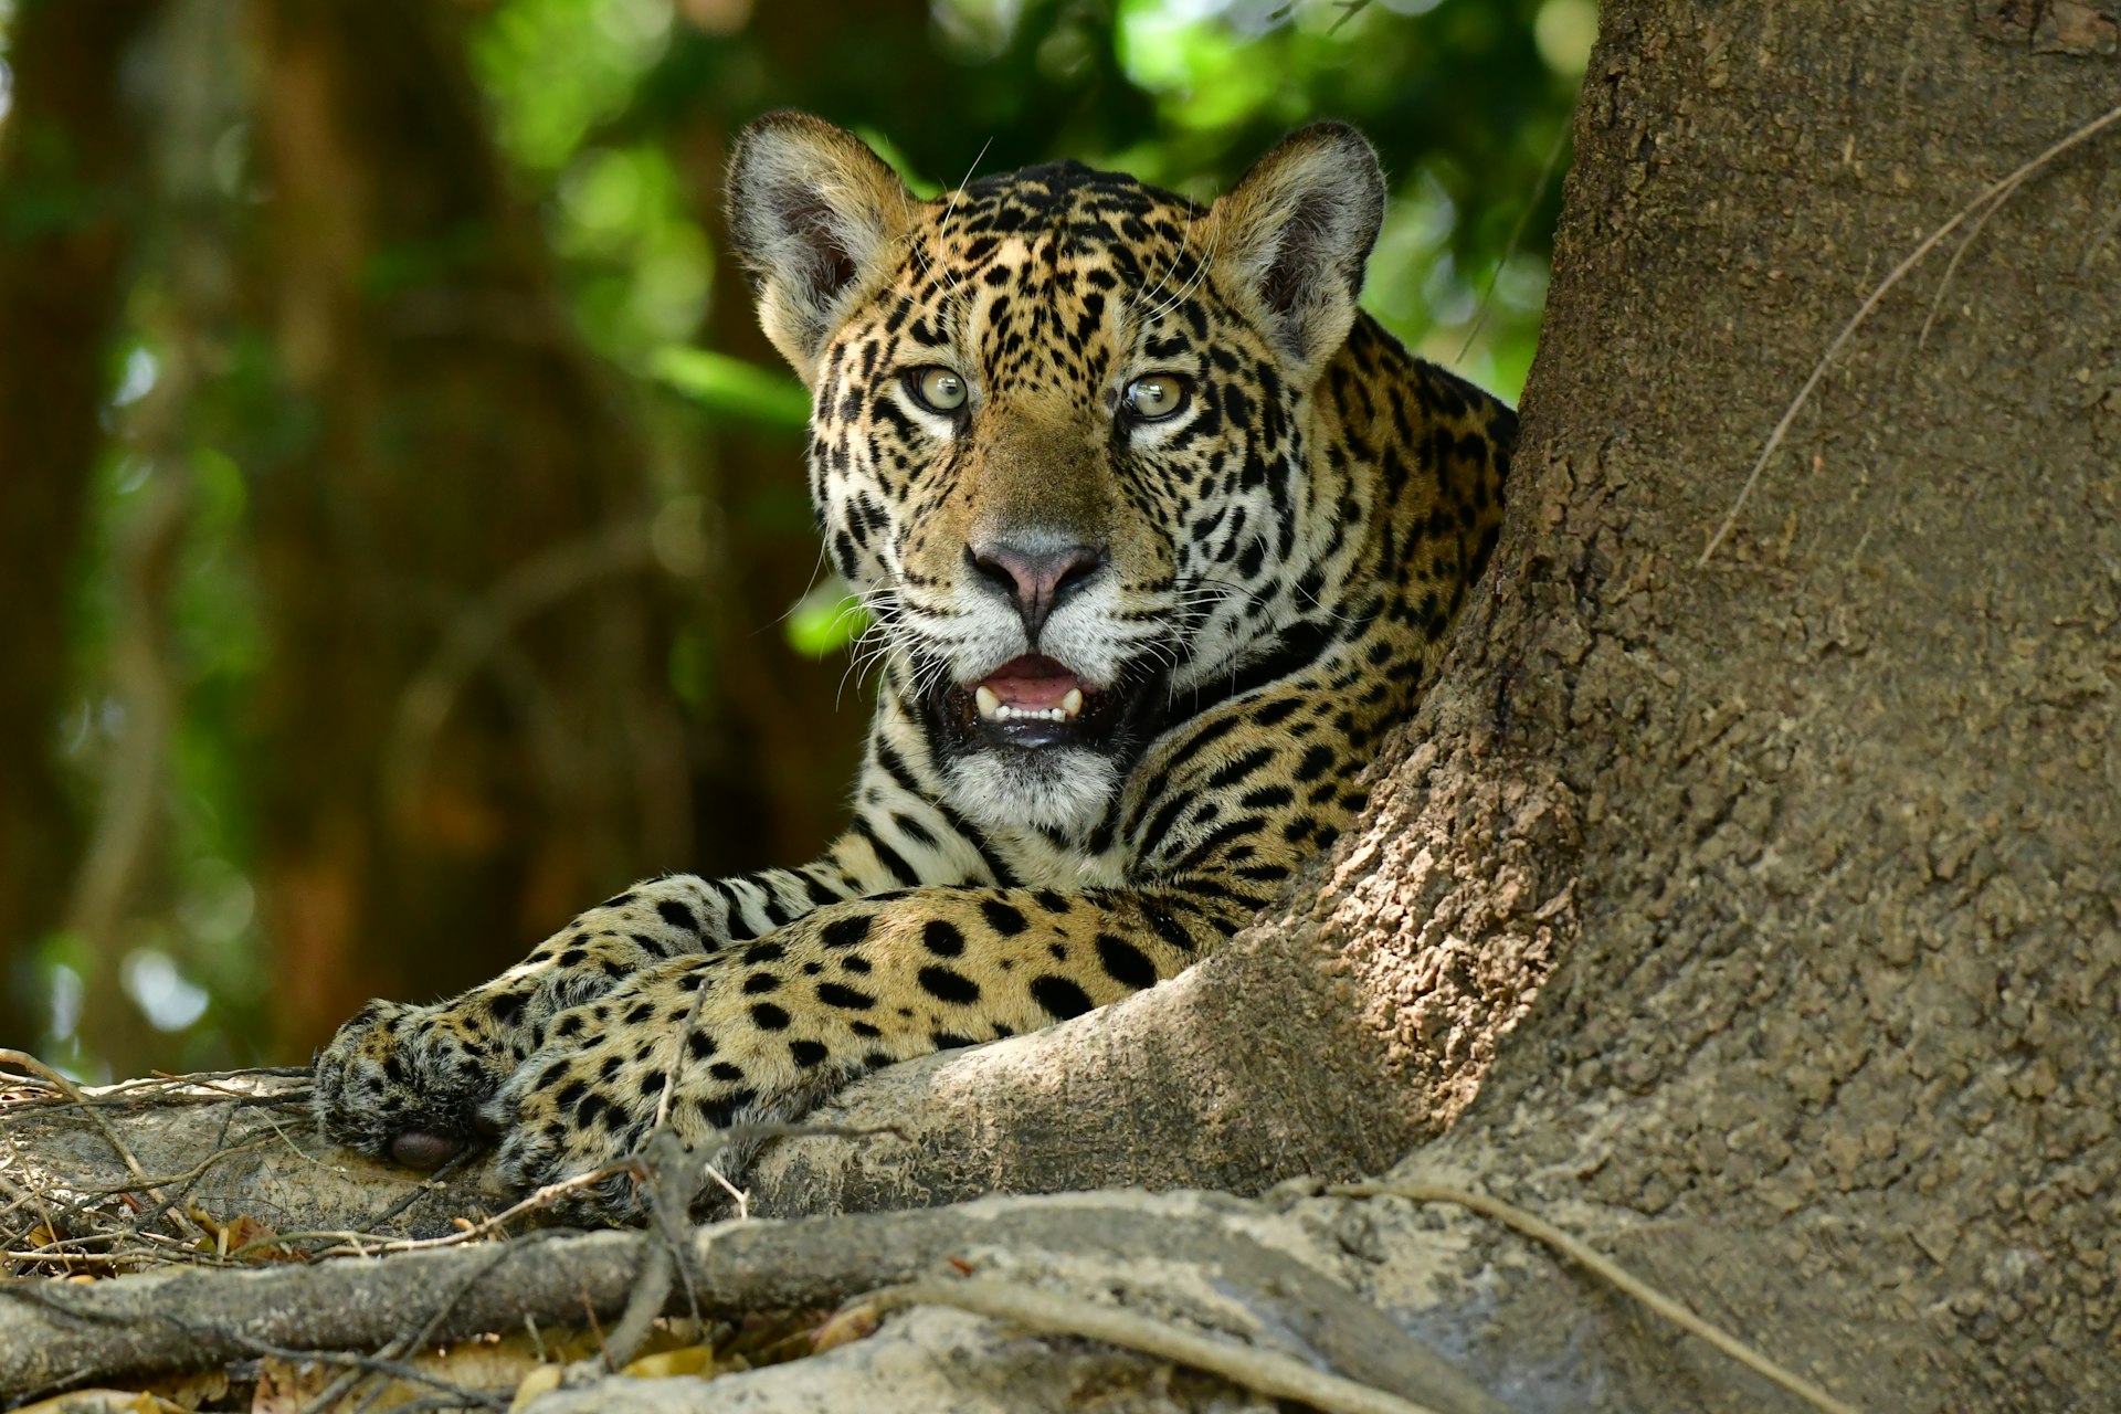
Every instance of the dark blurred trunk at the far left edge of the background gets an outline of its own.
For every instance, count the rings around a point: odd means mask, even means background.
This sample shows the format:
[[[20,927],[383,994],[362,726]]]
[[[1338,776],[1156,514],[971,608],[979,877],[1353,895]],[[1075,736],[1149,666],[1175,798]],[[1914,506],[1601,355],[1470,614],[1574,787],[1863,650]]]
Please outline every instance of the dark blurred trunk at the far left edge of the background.
[[[57,924],[78,827],[53,774],[68,570],[102,447],[146,136],[121,93],[159,0],[32,0],[0,140],[0,1035],[32,1037],[25,950]]]

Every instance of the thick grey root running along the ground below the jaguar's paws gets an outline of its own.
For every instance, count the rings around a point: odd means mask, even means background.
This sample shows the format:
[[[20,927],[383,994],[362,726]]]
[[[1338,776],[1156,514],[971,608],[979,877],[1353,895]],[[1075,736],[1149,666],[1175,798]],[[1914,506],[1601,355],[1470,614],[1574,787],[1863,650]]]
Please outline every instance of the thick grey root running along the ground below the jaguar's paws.
[[[687,1238],[689,1276],[674,1310],[708,1319],[834,1306],[848,1293],[931,1283],[950,1272],[1020,1270],[1027,1253],[1065,1255],[1137,1274],[1139,1291],[1175,1300],[1241,1340],[1294,1344],[1313,1365],[1404,1403],[1459,1414],[1495,1406],[1449,1361],[1302,1261],[1258,1204],[1203,1194],[1092,1194],[982,1200],[959,1208],[742,1221]],[[255,1272],[157,1272],[108,1283],[0,1287],[0,1397],[157,1372],[201,1369],[259,1353],[409,1350],[488,1331],[621,1316],[651,1244],[641,1232],[534,1234],[505,1247],[399,1253]],[[1213,1280],[1198,1278],[1203,1270]],[[1016,1280],[1029,1280],[1016,1274]],[[1207,1297],[1203,1293],[1215,1291]],[[437,1293],[441,1293],[437,1297]],[[1190,1293],[1190,1295],[1186,1295]],[[1118,1310],[1118,1308],[1114,1308]],[[1126,1321],[1139,1325],[1133,1308]],[[1294,1395],[1307,1397],[1307,1395]],[[1385,1406],[1377,1406],[1385,1408]]]

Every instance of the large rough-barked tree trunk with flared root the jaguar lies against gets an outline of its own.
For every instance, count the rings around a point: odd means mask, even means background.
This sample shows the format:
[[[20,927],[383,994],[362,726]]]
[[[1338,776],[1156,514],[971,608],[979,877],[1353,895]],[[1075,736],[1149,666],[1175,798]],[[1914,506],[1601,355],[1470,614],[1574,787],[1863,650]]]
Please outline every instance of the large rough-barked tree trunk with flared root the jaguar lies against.
[[[1495,579],[1368,818],[1175,984],[857,1088],[914,1143],[783,1143],[766,1206],[1400,1160],[1860,1408],[2121,1401],[2121,125],[1877,305],[1701,562],[1877,280],[2113,104],[1932,11],[1606,4]],[[1514,1410],[1796,1408],[1485,1219],[1302,1191],[1243,1221]]]

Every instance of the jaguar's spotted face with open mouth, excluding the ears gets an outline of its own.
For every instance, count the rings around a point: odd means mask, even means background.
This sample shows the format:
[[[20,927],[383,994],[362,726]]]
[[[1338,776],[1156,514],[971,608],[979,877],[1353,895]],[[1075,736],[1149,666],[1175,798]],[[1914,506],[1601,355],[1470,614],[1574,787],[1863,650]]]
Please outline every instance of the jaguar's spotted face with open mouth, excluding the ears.
[[[1020,825],[1101,806],[1171,689],[1270,632],[1245,577],[1294,505],[1247,458],[1264,346],[1215,299],[1203,216],[1082,167],[980,182],[821,363],[834,562],[952,774]]]

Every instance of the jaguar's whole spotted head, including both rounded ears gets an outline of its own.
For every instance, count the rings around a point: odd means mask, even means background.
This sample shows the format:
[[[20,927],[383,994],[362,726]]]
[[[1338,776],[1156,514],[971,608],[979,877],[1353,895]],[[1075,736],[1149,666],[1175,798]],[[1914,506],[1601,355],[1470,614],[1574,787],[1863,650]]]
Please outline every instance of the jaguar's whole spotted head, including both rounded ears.
[[[1080,163],[921,201],[819,119],[740,138],[732,229],[810,386],[819,526],[982,823],[1094,823],[1171,704],[1300,613],[1332,515],[1302,405],[1383,197],[1334,123],[1209,208]]]

